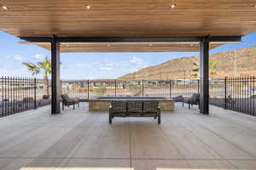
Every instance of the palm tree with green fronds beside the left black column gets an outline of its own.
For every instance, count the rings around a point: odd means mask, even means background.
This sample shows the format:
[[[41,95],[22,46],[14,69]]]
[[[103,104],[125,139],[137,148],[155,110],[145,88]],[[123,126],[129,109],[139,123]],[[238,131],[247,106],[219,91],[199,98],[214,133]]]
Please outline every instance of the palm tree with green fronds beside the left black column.
[[[27,66],[27,69],[32,72],[32,76],[38,75],[39,73],[44,74],[44,83],[46,86],[46,94],[49,96],[49,74],[51,73],[51,62],[47,56],[45,56],[43,62],[36,64],[32,62],[23,62],[23,65]]]

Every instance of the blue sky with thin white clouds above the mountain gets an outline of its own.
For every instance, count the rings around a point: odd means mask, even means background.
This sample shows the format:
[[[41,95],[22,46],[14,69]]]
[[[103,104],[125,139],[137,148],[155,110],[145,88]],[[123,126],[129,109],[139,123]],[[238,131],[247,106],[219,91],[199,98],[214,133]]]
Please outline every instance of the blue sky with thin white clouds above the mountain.
[[[256,45],[256,32],[242,38],[242,43],[225,44],[210,51],[211,54]],[[22,62],[38,62],[49,51],[35,45],[20,44],[20,39],[0,31],[0,76],[31,77]],[[62,79],[116,78],[150,65],[170,59],[195,56],[198,53],[62,53]],[[38,75],[42,77],[42,75]]]

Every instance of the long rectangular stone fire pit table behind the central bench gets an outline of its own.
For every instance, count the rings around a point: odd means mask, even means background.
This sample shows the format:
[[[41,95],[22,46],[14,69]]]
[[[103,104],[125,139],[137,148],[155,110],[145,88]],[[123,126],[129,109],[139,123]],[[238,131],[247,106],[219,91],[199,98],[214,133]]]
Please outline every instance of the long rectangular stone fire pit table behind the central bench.
[[[111,101],[159,101],[161,111],[174,111],[174,100],[164,97],[95,97],[89,100],[89,111],[108,111]]]

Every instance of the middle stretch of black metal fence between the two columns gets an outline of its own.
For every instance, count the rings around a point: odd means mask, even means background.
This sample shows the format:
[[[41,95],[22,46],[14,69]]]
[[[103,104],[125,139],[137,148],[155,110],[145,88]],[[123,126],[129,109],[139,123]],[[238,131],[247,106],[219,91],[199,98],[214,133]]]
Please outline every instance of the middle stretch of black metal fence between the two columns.
[[[61,81],[61,94],[82,100],[94,97],[189,97],[198,93],[198,80],[168,81]]]

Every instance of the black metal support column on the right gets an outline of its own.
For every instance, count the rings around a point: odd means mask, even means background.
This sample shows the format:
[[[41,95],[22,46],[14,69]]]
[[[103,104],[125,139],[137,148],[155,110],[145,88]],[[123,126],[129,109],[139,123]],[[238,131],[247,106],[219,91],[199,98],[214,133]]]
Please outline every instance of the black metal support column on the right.
[[[209,114],[209,42],[200,42],[200,112]]]

